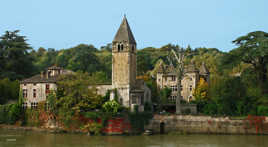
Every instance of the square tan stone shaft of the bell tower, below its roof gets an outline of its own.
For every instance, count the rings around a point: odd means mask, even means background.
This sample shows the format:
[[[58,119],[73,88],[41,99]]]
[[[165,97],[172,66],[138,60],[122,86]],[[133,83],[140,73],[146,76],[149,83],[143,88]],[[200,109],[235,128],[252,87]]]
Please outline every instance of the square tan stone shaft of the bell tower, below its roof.
[[[118,50],[123,44],[123,50]],[[114,43],[112,53],[112,87],[117,89],[118,100],[130,107],[130,90],[136,81],[136,48],[128,43]]]

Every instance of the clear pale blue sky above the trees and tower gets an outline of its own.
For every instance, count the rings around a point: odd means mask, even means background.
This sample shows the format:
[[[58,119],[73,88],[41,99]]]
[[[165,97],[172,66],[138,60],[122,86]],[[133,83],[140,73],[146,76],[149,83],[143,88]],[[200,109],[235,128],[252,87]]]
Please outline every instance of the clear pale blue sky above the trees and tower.
[[[268,32],[268,0],[0,0],[0,35],[20,30],[34,48],[99,48],[124,14],[138,48],[168,43],[230,51],[252,31]]]

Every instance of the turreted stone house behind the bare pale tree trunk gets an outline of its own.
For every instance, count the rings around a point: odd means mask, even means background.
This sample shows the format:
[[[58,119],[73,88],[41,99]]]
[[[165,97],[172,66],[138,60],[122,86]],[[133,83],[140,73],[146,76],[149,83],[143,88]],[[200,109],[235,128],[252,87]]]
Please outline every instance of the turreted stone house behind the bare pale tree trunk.
[[[194,100],[194,89],[197,87],[200,78],[204,78],[209,83],[209,71],[204,63],[197,69],[193,64],[185,66],[183,77],[181,80],[181,96],[182,99],[189,102]],[[164,87],[171,88],[171,96],[169,100],[176,102],[177,98],[177,71],[173,65],[165,65],[161,63],[157,72],[157,86],[162,89]]]

